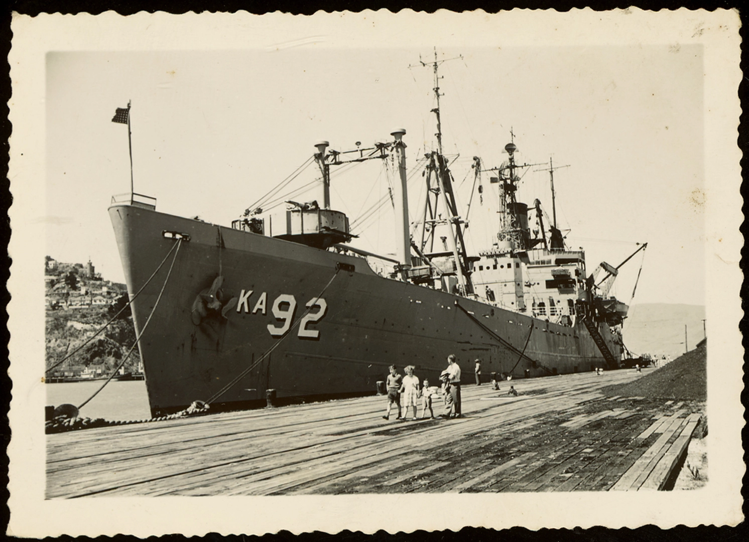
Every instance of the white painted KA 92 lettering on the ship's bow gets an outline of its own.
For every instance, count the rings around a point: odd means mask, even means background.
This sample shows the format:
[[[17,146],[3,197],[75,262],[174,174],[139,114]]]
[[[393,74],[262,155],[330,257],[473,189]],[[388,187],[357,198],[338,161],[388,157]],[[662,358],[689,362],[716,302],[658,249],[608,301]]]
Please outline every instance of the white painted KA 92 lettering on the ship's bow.
[[[267,313],[267,292],[263,292],[258,297],[255,305],[252,305],[252,311],[249,309],[251,303],[249,302],[249,296],[252,296],[253,290],[242,290],[240,293],[239,301],[237,302],[237,312],[246,314],[266,314]],[[311,323],[318,322],[327,312],[327,302],[321,297],[313,297],[306,302],[306,308],[309,308],[309,312],[304,315],[302,321],[299,324],[299,331],[297,331],[297,337],[301,338],[320,338],[320,332],[318,329],[308,329],[307,326]],[[273,303],[270,305],[270,312],[276,317],[278,323],[273,325],[268,324],[268,332],[273,337],[282,337],[288,332],[291,327],[291,323],[294,321],[294,312],[297,310],[297,299],[291,295],[291,293],[282,293],[276,299],[273,299]]]

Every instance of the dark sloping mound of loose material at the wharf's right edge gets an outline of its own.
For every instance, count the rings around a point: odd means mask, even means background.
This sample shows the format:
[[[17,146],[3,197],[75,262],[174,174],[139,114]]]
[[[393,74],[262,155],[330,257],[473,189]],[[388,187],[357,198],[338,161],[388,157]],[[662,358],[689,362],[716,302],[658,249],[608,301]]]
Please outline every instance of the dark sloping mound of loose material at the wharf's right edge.
[[[705,401],[707,396],[706,344],[690,350],[651,374],[625,384],[601,389],[605,395]]]

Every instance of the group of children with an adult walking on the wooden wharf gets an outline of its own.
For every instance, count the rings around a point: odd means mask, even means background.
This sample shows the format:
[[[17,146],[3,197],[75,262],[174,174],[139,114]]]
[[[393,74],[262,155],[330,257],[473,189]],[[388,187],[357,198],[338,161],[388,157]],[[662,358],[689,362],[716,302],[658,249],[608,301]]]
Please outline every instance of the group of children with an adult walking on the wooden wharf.
[[[422,415],[421,418],[426,418],[426,412],[429,411],[429,417],[434,418],[434,410],[432,410],[433,398],[442,395],[443,404],[445,408],[445,414],[443,416],[449,417],[454,415],[453,413],[453,402],[452,395],[449,390],[449,375],[447,371],[442,371],[440,375],[440,382],[442,383],[441,389],[438,386],[429,386],[429,380],[425,379],[423,387],[419,387],[419,379],[414,376],[413,371],[416,368],[413,365],[408,365],[405,368],[406,376],[401,377],[398,374],[398,369],[395,365],[390,365],[390,374],[387,376],[387,412],[383,415],[383,418],[388,420],[390,418],[390,409],[393,405],[398,407],[398,418],[408,418],[408,408],[413,408],[412,420],[418,418],[418,409],[416,403],[421,398],[422,404]],[[403,395],[403,404],[406,408],[405,416],[401,416],[401,394]]]

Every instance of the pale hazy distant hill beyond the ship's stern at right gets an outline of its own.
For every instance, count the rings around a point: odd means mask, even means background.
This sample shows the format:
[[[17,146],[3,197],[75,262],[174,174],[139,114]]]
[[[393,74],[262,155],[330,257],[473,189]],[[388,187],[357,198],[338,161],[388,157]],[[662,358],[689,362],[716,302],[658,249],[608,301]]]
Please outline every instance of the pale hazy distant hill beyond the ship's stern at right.
[[[684,326],[687,326],[688,347],[692,348],[705,337],[703,333],[704,305],[672,305],[643,303],[634,305],[624,321],[624,344],[632,353],[649,353],[676,358],[684,351]]]

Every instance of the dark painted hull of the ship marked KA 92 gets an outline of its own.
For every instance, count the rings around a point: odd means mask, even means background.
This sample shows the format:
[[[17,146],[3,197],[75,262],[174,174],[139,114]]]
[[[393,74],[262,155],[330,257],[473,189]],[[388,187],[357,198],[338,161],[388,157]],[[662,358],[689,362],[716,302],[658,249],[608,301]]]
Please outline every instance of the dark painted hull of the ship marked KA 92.
[[[476,358],[485,381],[492,372],[542,377],[605,366],[581,322],[548,323],[383,278],[351,255],[126,204],[109,213],[131,299],[148,282],[132,309],[153,415],[207,401],[230,383],[212,406],[258,404],[269,389],[280,401],[374,393],[391,364],[401,373],[415,365],[434,385],[450,353],[464,383]],[[619,359],[611,330],[599,331]]]

